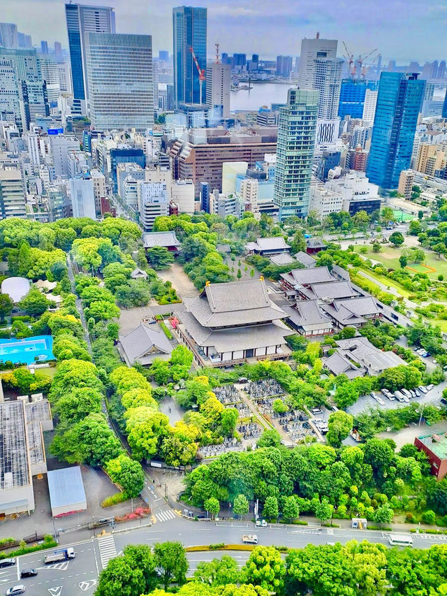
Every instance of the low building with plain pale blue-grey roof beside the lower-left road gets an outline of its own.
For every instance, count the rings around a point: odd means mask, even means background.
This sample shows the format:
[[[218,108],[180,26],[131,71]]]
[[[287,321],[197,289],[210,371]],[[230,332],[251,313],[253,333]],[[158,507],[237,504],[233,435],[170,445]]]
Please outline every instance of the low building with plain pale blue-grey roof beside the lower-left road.
[[[80,467],[64,467],[48,472],[51,514],[53,517],[79,513],[87,509]]]

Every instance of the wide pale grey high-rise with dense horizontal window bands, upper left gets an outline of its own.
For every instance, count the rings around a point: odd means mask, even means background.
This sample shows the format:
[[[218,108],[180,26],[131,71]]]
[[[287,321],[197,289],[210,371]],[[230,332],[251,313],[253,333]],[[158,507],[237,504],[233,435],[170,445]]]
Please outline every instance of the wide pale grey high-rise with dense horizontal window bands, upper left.
[[[101,131],[152,126],[151,36],[88,33],[85,55],[91,124]]]

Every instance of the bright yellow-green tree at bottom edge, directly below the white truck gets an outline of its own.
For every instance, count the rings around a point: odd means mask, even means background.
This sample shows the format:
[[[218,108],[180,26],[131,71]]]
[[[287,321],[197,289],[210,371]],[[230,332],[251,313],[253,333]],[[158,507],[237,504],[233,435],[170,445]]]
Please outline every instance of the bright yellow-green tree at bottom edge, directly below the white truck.
[[[256,546],[242,568],[242,578],[246,583],[261,586],[274,594],[282,593],[285,576],[281,553],[273,546]]]

